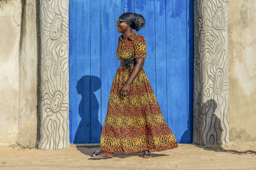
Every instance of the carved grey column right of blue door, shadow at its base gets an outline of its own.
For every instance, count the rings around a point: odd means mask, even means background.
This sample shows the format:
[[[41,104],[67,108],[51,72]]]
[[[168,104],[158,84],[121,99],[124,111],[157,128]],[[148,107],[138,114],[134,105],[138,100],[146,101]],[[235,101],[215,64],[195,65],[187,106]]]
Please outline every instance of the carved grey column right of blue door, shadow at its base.
[[[194,0],[193,143],[229,142],[228,0]]]

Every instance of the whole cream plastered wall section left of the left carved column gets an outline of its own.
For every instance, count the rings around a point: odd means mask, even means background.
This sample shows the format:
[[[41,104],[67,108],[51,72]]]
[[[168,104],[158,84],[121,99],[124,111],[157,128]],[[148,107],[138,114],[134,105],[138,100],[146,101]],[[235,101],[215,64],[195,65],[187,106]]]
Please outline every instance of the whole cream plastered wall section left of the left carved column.
[[[35,1],[4,2],[0,22],[0,145],[33,147],[37,124]]]

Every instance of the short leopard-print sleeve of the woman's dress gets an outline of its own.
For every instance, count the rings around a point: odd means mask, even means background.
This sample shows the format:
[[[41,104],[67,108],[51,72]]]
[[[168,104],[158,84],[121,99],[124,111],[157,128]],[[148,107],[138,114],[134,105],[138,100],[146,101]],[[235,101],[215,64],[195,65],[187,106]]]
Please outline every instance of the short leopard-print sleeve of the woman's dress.
[[[134,39],[134,53],[136,59],[145,59],[147,56],[146,40],[141,35]]]

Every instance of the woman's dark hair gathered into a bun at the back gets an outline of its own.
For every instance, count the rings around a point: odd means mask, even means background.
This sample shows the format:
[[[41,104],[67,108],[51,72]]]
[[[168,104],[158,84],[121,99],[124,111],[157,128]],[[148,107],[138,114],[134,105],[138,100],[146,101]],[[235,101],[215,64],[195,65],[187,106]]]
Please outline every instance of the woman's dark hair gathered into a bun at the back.
[[[145,18],[137,13],[123,13],[119,18],[124,20],[127,25],[136,31],[139,31],[142,27],[145,26]]]

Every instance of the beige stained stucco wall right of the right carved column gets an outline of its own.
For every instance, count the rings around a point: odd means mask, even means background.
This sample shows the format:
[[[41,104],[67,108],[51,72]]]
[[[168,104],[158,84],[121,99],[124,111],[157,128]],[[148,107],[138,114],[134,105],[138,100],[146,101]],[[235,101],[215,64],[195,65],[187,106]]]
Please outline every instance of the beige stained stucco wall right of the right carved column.
[[[256,145],[256,1],[228,6],[230,141]]]

